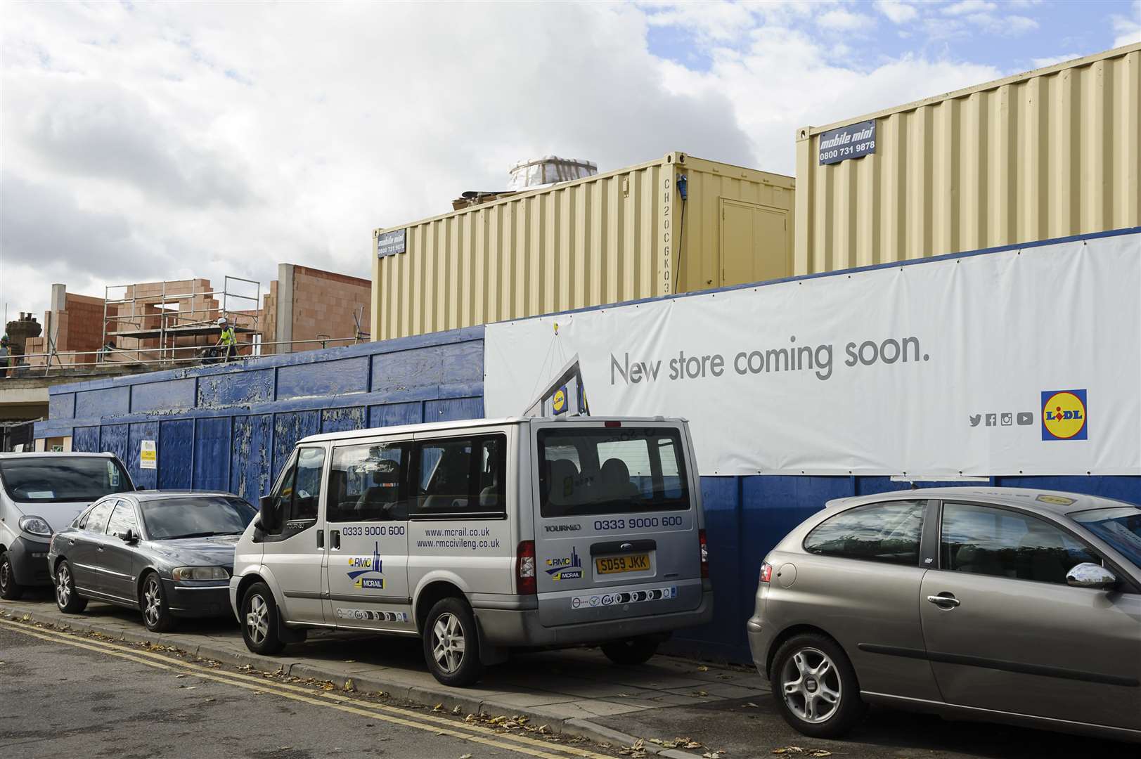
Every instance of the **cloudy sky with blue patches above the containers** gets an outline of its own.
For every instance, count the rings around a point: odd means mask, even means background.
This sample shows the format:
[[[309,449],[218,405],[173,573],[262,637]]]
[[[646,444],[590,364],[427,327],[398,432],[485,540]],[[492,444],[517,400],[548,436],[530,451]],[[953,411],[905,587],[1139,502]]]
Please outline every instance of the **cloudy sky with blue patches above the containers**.
[[[826,124],[1141,41],[1141,0],[0,6],[0,302],[278,263],[519,160],[794,173]],[[262,290],[265,291],[265,290]]]

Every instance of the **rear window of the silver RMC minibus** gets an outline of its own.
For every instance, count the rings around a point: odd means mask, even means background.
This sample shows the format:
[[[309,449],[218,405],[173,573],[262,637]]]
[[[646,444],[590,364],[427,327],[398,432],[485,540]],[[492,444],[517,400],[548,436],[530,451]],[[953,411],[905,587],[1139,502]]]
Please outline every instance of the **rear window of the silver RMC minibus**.
[[[539,492],[543,517],[689,508],[677,429],[542,429]]]

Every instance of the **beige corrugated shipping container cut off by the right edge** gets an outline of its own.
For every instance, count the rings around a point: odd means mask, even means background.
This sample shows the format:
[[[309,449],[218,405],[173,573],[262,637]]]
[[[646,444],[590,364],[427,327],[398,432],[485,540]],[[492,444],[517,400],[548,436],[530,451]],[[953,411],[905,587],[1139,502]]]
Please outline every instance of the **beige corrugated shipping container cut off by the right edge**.
[[[1141,45],[796,132],[795,273],[1141,224]],[[822,165],[822,132],[875,152]]]

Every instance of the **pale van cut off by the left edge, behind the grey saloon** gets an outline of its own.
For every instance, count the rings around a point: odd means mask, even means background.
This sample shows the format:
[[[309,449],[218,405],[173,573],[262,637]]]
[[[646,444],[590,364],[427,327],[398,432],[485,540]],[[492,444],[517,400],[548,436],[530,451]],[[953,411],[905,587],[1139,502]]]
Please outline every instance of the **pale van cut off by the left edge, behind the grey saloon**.
[[[51,533],[104,495],[132,490],[112,453],[0,453],[0,598],[50,586]]]

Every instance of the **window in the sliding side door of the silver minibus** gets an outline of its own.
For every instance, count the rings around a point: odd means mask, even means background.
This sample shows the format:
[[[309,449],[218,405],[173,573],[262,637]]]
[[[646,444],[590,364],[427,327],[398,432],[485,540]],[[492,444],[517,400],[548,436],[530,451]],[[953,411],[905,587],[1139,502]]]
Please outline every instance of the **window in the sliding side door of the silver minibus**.
[[[329,520],[407,519],[410,447],[410,443],[369,443],[333,449]]]

